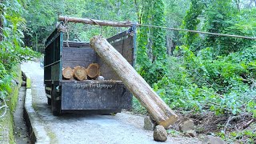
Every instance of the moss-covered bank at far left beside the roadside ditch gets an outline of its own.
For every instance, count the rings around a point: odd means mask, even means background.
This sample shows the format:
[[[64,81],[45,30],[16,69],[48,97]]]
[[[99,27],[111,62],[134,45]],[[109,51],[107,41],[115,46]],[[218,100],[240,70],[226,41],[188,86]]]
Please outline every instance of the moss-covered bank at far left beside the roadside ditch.
[[[0,143],[15,143],[13,112],[18,102],[18,89],[22,83],[21,66],[15,66],[13,72],[15,73],[14,79],[18,81],[18,85],[12,86],[12,91],[6,99],[8,109],[4,117],[0,119]],[[1,110],[0,114],[3,114],[3,112],[4,110]]]

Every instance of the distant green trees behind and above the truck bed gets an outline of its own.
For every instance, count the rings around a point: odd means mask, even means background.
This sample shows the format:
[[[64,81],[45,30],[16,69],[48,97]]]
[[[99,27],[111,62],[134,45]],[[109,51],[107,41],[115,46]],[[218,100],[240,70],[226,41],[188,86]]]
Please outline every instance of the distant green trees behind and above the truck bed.
[[[67,17],[136,22],[136,10],[133,4],[132,1],[126,0],[31,1],[25,14],[28,27],[26,38],[30,39],[26,41],[26,45],[35,47],[36,43],[44,44],[44,40],[58,22],[58,14]],[[67,25],[69,40],[83,42],[90,42],[90,38],[101,32],[104,37],[109,38],[127,30],[127,28],[107,26],[100,28],[100,26],[81,23],[68,23]]]

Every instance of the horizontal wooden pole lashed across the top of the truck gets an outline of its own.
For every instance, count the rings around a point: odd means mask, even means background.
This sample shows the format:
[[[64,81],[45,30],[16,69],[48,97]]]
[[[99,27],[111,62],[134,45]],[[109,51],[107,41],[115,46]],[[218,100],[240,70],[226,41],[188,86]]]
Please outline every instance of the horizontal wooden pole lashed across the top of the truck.
[[[114,27],[130,27],[134,25],[133,22],[110,22],[110,21],[101,21],[101,20],[90,19],[90,18],[74,18],[74,17],[64,17],[64,16],[59,16],[58,21],[85,23],[85,24],[98,25],[98,26],[114,26]]]

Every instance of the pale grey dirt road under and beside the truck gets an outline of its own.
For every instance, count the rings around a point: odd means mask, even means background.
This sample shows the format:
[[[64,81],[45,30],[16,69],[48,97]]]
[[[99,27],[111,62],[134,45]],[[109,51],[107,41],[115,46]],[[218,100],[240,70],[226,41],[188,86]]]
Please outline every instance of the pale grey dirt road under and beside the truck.
[[[51,143],[161,143],[153,132],[143,130],[143,117],[129,113],[111,115],[64,114],[56,117],[46,104],[43,69],[39,62],[22,64],[30,74],[33,106]],[[171,138],[166,143],[198,143],[196,138]]]

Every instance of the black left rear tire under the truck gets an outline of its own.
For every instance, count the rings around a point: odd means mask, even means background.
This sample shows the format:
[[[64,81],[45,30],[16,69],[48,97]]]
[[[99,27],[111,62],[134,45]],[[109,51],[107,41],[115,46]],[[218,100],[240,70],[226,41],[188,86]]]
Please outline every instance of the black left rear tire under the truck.
[[[62,114],[62,110],[61,110],[61,101],[56,100],[58,93],[56,91],[56,86],[52,86],[51,89],[51,111],[54,114],[54,116],[58,116]]]

